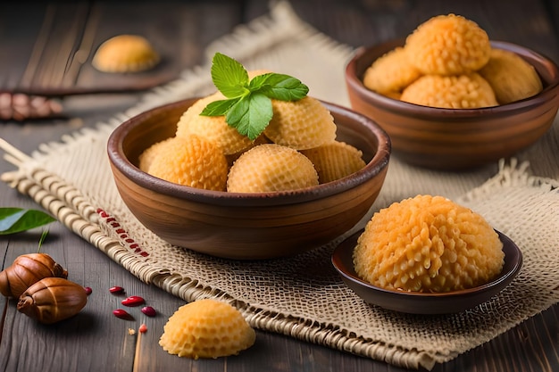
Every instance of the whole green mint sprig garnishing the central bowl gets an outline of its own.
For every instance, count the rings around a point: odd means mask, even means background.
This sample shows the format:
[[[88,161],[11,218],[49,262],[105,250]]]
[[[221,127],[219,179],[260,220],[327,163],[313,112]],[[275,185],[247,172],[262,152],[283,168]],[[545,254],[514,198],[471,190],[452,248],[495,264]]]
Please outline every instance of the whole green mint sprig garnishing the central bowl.
[[[225,54],[216,53],[212,61],[212,80],[227,99],[209,103],[200,115],[221,116],[229,127],[254,140],[270,123],[271,99],[297,101],[309,88],[299,79],[274,72],[248,79],[242,64]]]

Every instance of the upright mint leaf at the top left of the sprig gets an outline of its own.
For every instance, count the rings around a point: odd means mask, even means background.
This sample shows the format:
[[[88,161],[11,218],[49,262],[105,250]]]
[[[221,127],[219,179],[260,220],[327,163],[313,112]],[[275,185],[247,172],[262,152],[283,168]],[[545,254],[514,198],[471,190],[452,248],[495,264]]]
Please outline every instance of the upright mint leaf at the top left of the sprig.
[[[226,97],[237,98],[248,94],[248,73],[234,59],[225,54],[214,54],[211,72],[213,84]]]

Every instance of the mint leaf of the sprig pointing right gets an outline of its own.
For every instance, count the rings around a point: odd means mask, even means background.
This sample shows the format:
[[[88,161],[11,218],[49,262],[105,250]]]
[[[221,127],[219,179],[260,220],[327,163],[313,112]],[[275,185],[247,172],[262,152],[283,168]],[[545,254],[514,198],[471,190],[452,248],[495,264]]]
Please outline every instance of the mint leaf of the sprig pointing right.
[[[249,87],[252,92],[259,91],[272,99],[280,101],[297,101],[305,97],[309,87],[299,79],[289,75],[267,73],[250,80]]]

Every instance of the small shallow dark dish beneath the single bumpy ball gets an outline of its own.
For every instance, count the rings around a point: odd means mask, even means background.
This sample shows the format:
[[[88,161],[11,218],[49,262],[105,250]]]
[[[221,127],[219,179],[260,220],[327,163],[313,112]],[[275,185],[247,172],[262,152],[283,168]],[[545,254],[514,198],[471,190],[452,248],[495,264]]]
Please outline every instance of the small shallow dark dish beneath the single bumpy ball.
[[[497,231],[503,242],[505,265],[501,273],[486,285],[446,293],[392,291],[371,285],[361,279],[354,269],[353,252],[361,230],[338,245],[332,254],[332,264],[346,285],[372,305],[387,310],[411,314],[450,314],[471,309],[509,285],[522,266],[522,253],[511,239]]]

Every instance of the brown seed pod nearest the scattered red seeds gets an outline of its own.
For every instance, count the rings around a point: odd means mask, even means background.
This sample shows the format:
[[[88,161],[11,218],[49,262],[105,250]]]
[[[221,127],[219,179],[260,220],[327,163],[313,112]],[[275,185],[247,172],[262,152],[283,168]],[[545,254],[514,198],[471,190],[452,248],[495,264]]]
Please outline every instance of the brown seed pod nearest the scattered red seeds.
[[[29,318],[52,324],[78,314],[87,302],[83,286],[62,277],[46,277],[21,294],[17,308]]]

